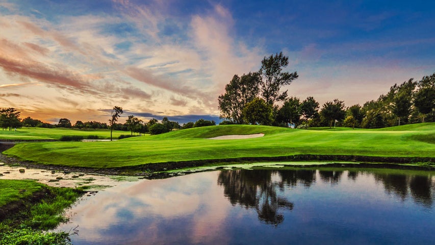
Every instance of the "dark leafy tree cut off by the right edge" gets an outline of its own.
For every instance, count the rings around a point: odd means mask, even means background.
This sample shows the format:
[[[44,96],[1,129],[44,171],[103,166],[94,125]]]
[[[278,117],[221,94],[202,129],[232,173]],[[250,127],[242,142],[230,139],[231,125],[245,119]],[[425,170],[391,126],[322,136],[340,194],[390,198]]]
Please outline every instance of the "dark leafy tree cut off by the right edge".
[[[414,105],[422,114],[424,122],[425,115],[435,110],[435,73],[423,77],[417,86],[418,90],[414,93]]]

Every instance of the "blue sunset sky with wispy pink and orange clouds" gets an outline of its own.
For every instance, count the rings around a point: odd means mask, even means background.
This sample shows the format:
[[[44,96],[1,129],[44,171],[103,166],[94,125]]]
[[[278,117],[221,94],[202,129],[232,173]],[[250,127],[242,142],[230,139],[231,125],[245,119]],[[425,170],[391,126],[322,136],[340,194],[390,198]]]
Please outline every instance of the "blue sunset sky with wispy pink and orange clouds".
[[[232,77],[279,52],[290,96],[363,105],[435,72],[435,1],[0,0],[0,108],[219,120]]]

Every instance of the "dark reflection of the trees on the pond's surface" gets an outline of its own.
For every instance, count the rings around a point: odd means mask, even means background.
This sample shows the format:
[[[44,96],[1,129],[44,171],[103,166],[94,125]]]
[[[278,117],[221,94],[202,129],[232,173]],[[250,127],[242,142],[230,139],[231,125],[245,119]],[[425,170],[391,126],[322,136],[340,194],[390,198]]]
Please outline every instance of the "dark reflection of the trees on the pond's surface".
[[[277,191],[284,191],[285,187],[302,185],[310,188],[316,178],[323,183],[336,185],[340,183],[344,172],[347,178],[355,181],[360,175],[371,175],[376,182],[381,182],[385,191],[400,198],[402,201],[411,197],[416,204],[430,208],[433,203],[432,176],[385,174],[368,170],[315,170],[279,169],[279,170],[222,170],[218,177],[218,184],[224,187],[224,195],[232,205],[239,204],[246,209],[257,211],[261,222],[279,225],[284,221],[284,215],[279,210],[292,210],[293,203],[284,197],[279,197]],[[279,178],[275,178],[279,177]]]

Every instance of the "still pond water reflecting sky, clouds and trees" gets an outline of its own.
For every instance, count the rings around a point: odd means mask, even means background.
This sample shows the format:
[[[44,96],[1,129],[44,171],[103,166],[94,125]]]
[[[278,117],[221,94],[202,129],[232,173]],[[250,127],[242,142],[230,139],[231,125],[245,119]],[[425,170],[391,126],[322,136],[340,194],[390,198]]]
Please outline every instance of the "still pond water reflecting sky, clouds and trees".
[[[433,244],[435,173],[283,168],[127,182],[87,197],[73,244]]]

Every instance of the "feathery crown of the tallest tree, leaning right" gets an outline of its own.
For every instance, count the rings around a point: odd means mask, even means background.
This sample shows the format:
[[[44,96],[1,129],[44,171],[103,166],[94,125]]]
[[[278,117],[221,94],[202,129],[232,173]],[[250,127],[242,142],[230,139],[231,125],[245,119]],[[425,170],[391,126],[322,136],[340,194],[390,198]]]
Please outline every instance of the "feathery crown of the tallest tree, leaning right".
[[[295,72],[283,72],[283,68],[289,64],[289,57],[284,56],[283,52],[264,57],[261,61],[259,74],[260,93],[267,104],[273,105],[277,101],[284,101],[287,98],[287,91],[280,92],[280,89],[289,85],[298,78]]]

